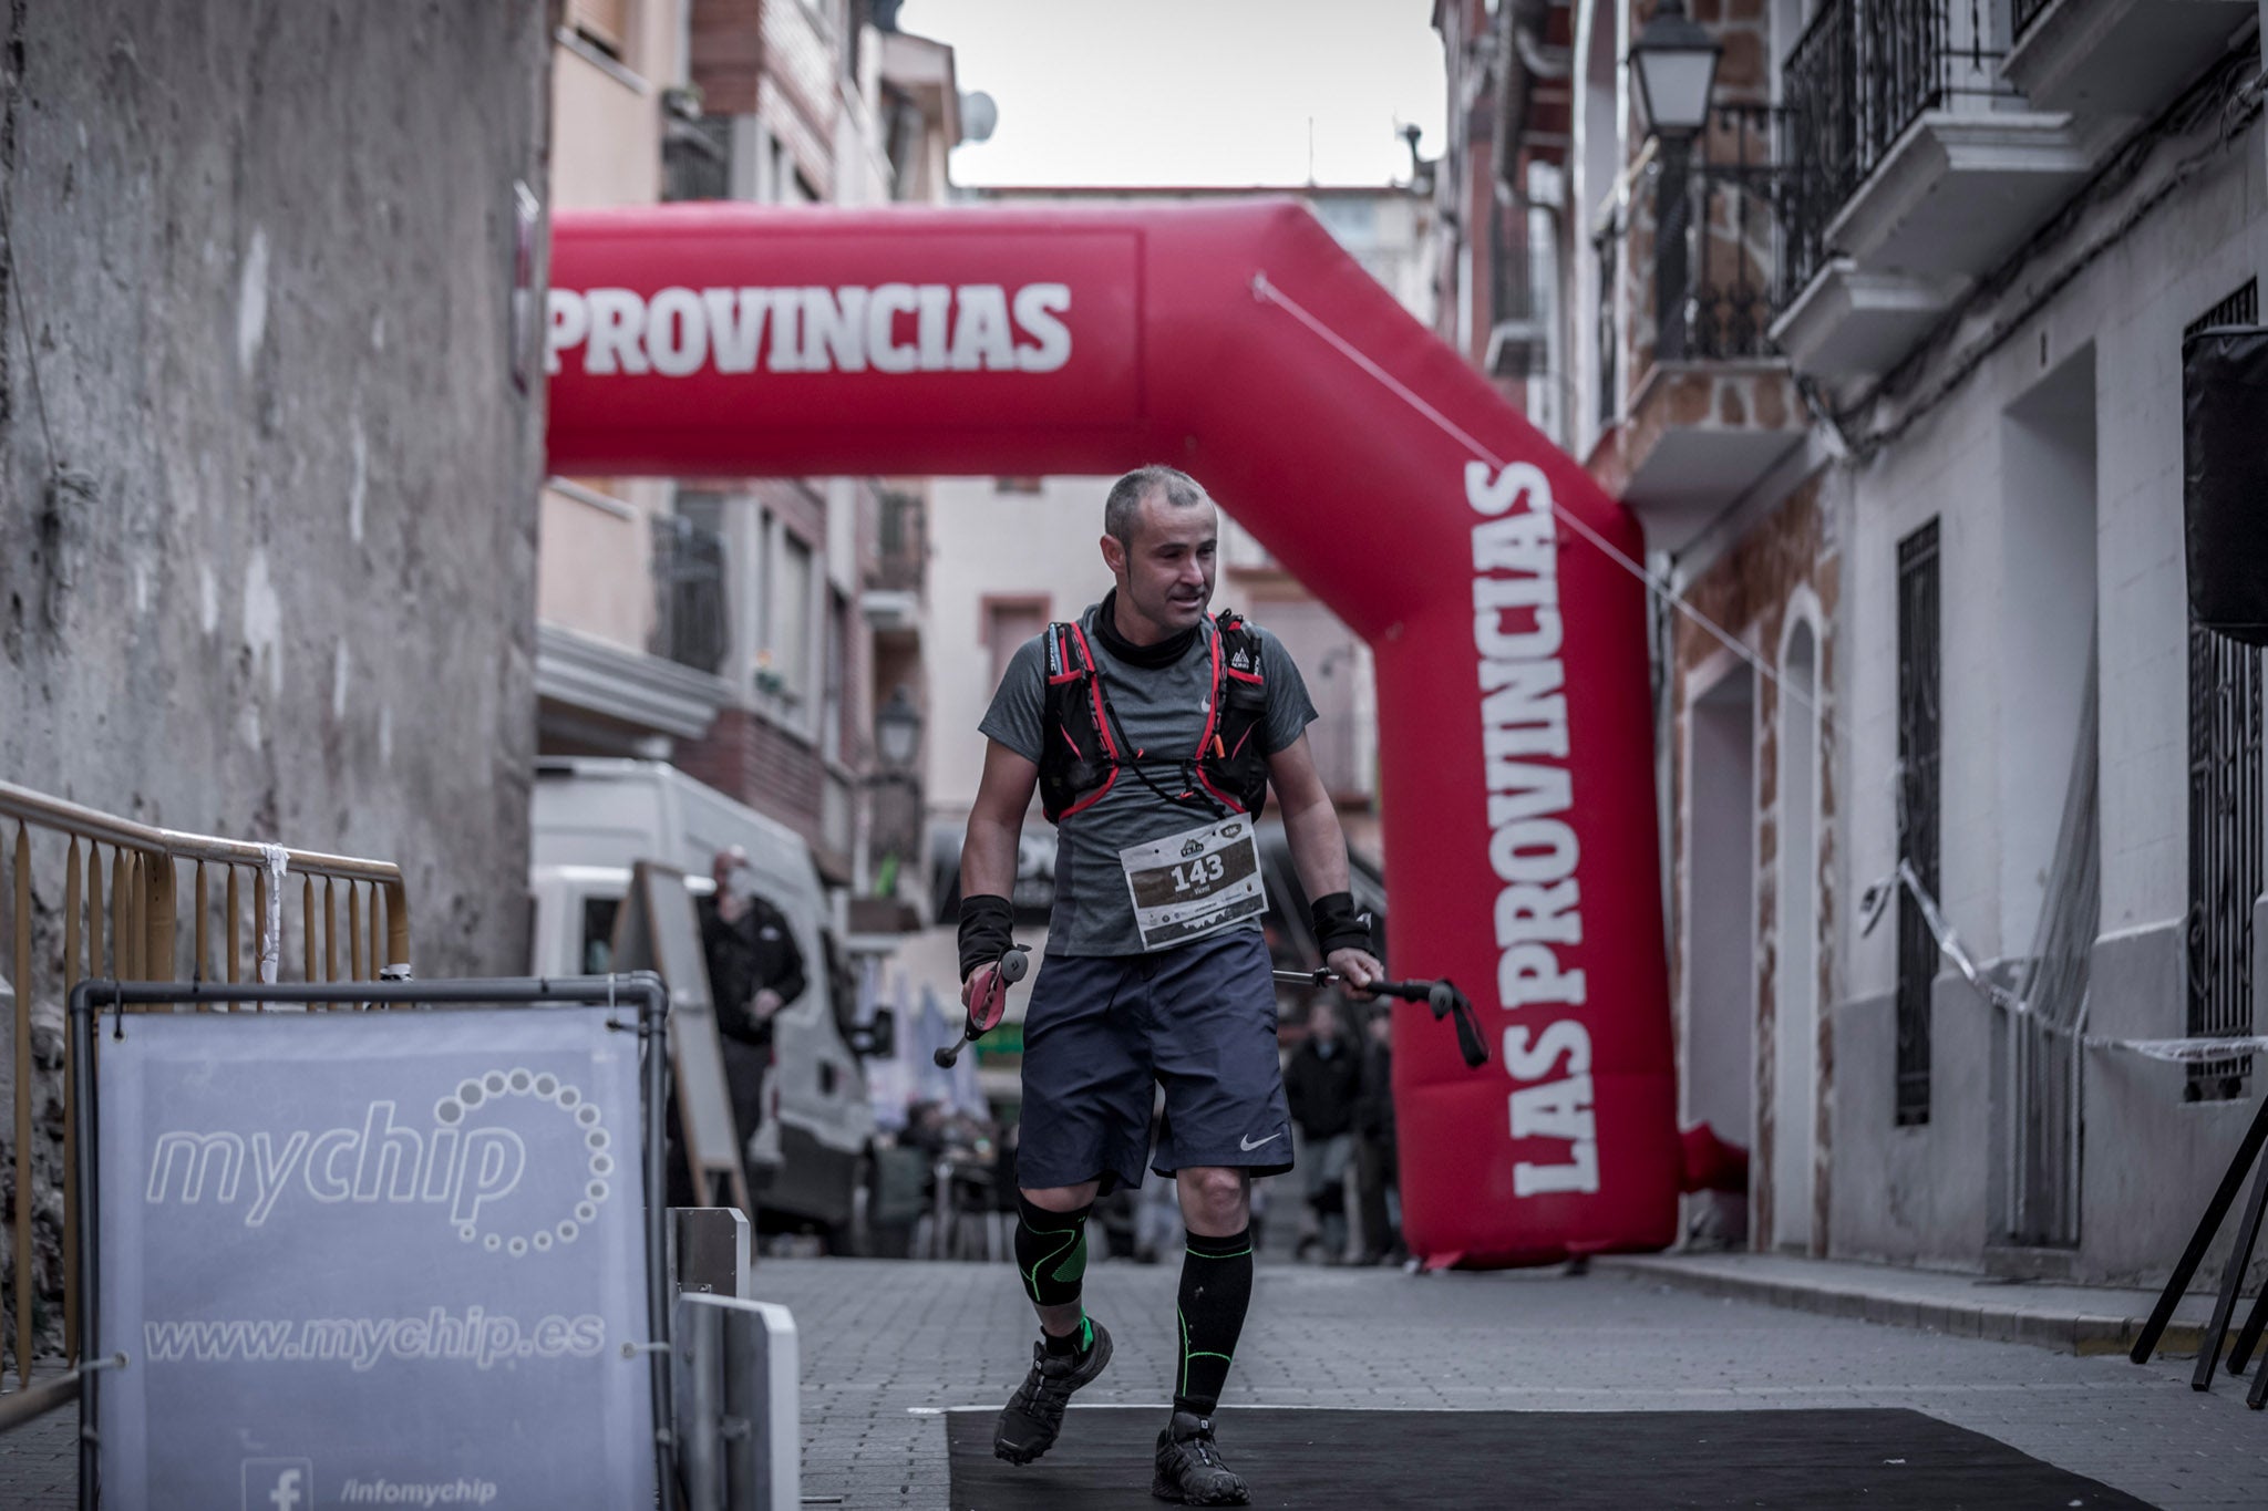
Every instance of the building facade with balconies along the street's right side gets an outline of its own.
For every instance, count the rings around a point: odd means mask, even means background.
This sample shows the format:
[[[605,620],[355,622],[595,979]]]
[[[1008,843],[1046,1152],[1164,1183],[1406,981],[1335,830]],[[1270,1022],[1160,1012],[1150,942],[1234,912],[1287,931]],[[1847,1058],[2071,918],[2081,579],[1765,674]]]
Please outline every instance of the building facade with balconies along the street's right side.
[[[1549,211],[1531,392],[1669,589],[1681,1112],[1751,1151],[1696,1237],[2161,1278],[2259,1096],[2132,1047],[2261,1017],[2261,671],[2182,541],[2184,333],[2268,263],[2259,16],[1696,0],[1690,138],[1649,18],[1438,11],[1452,109],[1567,88],[1492,165]]]

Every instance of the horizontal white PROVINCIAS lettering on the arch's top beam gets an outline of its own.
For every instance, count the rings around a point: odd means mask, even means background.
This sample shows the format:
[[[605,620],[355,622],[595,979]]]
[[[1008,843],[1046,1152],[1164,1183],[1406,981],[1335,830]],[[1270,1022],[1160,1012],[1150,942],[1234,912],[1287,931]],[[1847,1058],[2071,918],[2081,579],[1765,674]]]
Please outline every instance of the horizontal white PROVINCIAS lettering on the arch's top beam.
[[[764,372],[1057,372],[1068,313],[1068,283],[553,288],[544,369],[581,351],[592,376],[748,374],[758,356]]]

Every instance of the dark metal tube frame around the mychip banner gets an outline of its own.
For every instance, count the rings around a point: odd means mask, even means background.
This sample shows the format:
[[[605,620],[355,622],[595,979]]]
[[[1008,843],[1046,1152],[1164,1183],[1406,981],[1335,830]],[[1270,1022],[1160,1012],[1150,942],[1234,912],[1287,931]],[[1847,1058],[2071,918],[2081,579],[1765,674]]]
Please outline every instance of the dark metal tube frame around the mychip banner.
[[[102,1119],[95,1105],[95,1024],[104,1010],[113,1013],[113,1033],[122,1028],[127,1010],[191,1006],[211,1010],[215,1004],[302,1004],[302,1006],[367,1006],[367,1008],[479,1008],[479,1006],[626,1006],[637,1008],[637,1038],[644,1062],[640,1085],[644,1092],[644,1176],[646,1176],[646,1332],[649,1339],[649,1386],[653,1395],[653,1470],[662,1504],[676,1504],[676,1434],[671,1414],[671,1366],[669,1366],[669,1257],[667,1257],[667,1203],[665,1203],[665,1128],[662,1110],[669,1101],[669,988],[653,972],[628,976],[497,976],[492,981],[342,981],[322,985],[238,985],[238,983],[172,983],[172,981],[79,981],[70,988],[70,1044],[73,1044],[73,1126],[77,1135],[84,1183],[77,1212],[79,1237],[79,1296],[82,1330],[79,1359],[66,1375],[79,1395],[79,1506],[95,1511],[102,1504],[102,1391],[100,1371],[116,1368],[122,1359],[93,1359],[91,1343],[98,1337],[98,1280],[100,1264],[100,1133]],[[624,1024],[628,1026],[628,1024]],[[61,1384],[61,1382],[59,1382]]]

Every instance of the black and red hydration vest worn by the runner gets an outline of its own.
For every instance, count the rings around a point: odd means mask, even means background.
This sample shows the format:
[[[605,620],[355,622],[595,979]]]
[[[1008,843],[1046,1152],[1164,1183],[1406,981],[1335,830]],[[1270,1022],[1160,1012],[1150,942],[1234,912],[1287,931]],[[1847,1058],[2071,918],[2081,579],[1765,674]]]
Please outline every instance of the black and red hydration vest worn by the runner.
[[[1259,634],[1234,609],[1220,609],[1207,646],[1213,655],[1213,695],[1195,748],[1129,752],[1086,648],[1086,632],[1077,623],[1048,625],[1048,705],[1039,757],[1039,802],[1048,822],[1059,825],[1095,804],[1129,768],[1168,800],[1204,804],[1216,818],[1261,816],[1268,806],[1268,757],[1256,736],[1268,718],[1268,682],[1261,677]]]

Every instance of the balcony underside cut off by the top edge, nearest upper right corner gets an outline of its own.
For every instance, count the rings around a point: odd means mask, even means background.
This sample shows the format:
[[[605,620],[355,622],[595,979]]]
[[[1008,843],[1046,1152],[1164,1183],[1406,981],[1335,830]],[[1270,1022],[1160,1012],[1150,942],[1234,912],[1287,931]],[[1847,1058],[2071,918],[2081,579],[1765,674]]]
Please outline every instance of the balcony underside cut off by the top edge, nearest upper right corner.
[[[2000,72],[2043,111],[2148,116],[2254,14],[2254,0],[2014,0]]]

